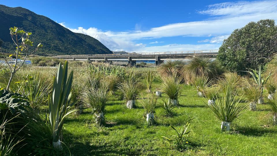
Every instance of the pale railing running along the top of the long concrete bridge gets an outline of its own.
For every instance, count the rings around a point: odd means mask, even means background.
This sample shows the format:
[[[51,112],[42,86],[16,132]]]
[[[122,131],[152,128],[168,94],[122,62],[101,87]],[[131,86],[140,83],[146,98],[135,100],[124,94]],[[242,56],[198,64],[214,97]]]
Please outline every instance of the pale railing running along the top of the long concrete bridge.
[[[54,57],[80,57],[80,56],[119,56],[119,55],[169,55],[184,53],[214,53],[218,50],[192,50],[192,51],[168,51],[168,52],[152,52],[152,53],[127,53],[127,54],[93,54],[93,55],[57,55]]]

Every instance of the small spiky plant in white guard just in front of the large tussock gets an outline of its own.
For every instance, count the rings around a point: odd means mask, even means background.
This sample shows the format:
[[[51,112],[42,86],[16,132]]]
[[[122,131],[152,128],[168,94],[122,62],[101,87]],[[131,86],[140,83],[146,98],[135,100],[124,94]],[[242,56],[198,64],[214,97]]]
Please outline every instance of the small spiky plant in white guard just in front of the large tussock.
[[[209,88],[209,86],[211,85],[212,81],[209,80],[208,77],[196,77],[194,79],[194,81],[192,82],[193,86],[195,87],[196,91],[197,91],[197,95],[199,97],[203,97],[205,90],[207,90]]]

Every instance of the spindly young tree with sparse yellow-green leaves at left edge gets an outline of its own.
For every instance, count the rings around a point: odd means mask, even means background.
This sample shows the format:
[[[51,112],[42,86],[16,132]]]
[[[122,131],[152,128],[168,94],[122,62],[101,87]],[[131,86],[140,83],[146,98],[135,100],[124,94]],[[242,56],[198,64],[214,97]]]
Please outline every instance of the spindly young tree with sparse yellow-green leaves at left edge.
[[[16,58],[13,63],[12,61],[8,61],[8,59],[4,57],[5,63],[8,64],[10,68],[10,73],[11,73],[10,80],[6,88],[7,90],[10,87],[10,83],[12,81],[12,78],[14,77],[14,74],[23,66],[23,64],[27,59],[27,56],[35,53],[36,51],[38,51],[39,48],[42,47],[42,44],[39,43],[38,46],[33,51],[29,52],[29,47],[33,46],[33,42],[29,39],[31,34],[32,34],[31,32],[25,32],[23,30],[18,29],[17,27],[10,28],[10,35],[11,35],[12,41],[16,45],[15,53],[12,55],[15,55]],[[1,47],[0,47],[0,51],[2,52]],[[12,55],[10,55],[9,57],[11,57]],[[24,60],[22,64],[19,64],[18,59],[21,55],[24,56]]]

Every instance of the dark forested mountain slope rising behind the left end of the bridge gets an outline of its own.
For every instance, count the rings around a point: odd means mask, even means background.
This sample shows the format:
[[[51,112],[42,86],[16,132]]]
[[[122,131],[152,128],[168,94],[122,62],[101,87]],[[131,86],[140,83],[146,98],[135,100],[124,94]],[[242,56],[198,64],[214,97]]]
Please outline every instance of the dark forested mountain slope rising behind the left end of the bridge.
[[[3,40],[2,49],[6,53],[13,53],[15,50],[9,30],[14,26],[32,33],[30,39],[34,42],[34,47],[38,43],[43,44],[36,55],[112,53],[95,38],[74,33],[50,18],[22,7],[11,8],[0,5],[0,21],[0,39]]]

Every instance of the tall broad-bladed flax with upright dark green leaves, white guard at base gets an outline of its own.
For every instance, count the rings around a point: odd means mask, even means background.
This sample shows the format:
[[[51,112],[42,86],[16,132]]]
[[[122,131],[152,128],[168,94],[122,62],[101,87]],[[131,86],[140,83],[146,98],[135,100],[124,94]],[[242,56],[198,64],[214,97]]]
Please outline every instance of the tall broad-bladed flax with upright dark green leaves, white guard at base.
[[[65,61],[62,68],[61,63],[57,70],[57,77],[53,78],[52,93],[48,95],[48,110],[50,125],[52,128],[53,147],[61,150],[62,129],[65,117],[68,114],[77,111],[78,109],[70,108],[75,103],[70,103],[71,100],[71,84],[73,79],[73,70],[71,71],[68,80],[68,62]]]

